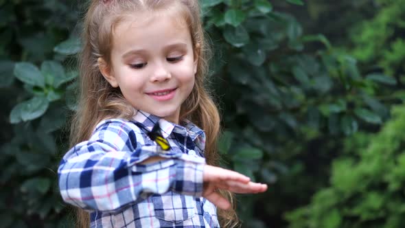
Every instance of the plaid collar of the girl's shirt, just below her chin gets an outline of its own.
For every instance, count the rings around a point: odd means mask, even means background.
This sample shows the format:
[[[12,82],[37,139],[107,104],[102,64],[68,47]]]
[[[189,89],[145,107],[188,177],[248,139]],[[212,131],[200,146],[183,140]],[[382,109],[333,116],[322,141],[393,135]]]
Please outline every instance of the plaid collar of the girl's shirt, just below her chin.
[[[161,133],[164,138],[169,137],[169,135],[174,132],[184,136],[188,136],[192,139],[192,141],[199,139],[198,141],[205,142],[204,131],[198,128],[198,126],[190,122],[188,119],[185,119],[184,126],[181,126],[172,122],[168,122],[167,120],[156,115],[152,115],[140,110],[136,110],[136,114],[134,115],[134,117],[132,117],[132,119],[136,122],[141,123],[148,130],[152,130],[154,124],[159,122]]]

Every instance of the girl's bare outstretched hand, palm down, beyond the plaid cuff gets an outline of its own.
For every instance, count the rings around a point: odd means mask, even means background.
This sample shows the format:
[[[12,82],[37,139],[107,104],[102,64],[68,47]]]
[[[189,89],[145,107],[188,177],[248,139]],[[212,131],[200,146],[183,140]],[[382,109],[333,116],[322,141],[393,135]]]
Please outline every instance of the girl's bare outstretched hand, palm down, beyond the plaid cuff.
[[[216,192],[217,189],[243,194],[259,193],[267,190],[266,184],[253,183],[247,176],[239,172],[209,165],[205,165],[203,181],[203,197],[221,209],[229,209],[231,203]]]

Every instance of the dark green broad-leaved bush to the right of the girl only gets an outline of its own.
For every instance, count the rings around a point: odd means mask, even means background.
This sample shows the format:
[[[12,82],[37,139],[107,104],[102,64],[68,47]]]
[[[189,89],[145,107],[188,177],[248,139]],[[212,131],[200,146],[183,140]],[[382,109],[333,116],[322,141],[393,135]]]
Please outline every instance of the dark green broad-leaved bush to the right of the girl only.
[[[378,94],[396,81],[362,73],[327,38],[305,35],[294,16],[271,4],[259,10],[261,2],[215,1],[205,9],[205,27],[217,55],[212,80],[227,130],[224,166],[274,183],[266,194],[240,197],[240,215],[246,227],[281,227],[283,212],[325,185],[336,157],[327,152],[339,148],[339,138],[389,118]],[[323,47],[305,49],[314,42]]]

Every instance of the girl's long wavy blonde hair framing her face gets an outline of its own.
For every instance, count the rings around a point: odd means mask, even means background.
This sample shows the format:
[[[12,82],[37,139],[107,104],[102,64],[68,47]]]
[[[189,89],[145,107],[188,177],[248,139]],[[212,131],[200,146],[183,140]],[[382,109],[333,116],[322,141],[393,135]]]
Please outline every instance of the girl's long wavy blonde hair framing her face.
[[[113,88],[100,73],[97,59],[111,64],[113,30],[126,15],[147,10],[176,10],[188,25],[192,36],[194,56],[198,58],[194,89],[181,106],[180,120],[189,119],[205,130],[207,136],[205,158],[210,165],[218,165],[217,139],[220,134],[220,115],[209,91],[207,80],[209,48],[205,42],[198,0],[92,0],[84,17],[82,52],[80,53],[80,95],[78,111],[71,119],[71,146],[88,140],[97,123],[103,119],[130,119],[135,113],[119,88]],[[221,191],[233,207],[218,208],[221,227],[237,227],[235,201],[231,192]],[[77,225],[89,227],[89,214],[78,209]]]

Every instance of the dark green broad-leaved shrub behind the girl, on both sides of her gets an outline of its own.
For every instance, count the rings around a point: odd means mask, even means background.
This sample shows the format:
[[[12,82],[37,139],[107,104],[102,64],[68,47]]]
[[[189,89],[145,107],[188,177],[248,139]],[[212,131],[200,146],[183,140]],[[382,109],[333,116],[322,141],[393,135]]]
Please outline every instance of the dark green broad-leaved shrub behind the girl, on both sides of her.
[[[313,152],[314,145],[319,151],[334,148],[340,137],[380,126],[389,117],[380,88],[396,81],[363,74],[355,58],[322,35],[305,35],[294,16],[273,9],[273,1],[202,3],[216,54],[211,86],[223,109],[223,166],[278,184],[266,194],[240,198],[245,226],[266,227],[269,216],[279,218],[297,198],[305,201],[305,186],[320,183],[303,175],[310,171],[297,157]],[[75,109],[72,55],[80,51],[82,4],[0,1],[0,113],[7,122],[0,148],[3,227],[72,226],[56,168],[67,150],[63,128]],[[314,42],[324,47],[305,49]]]

